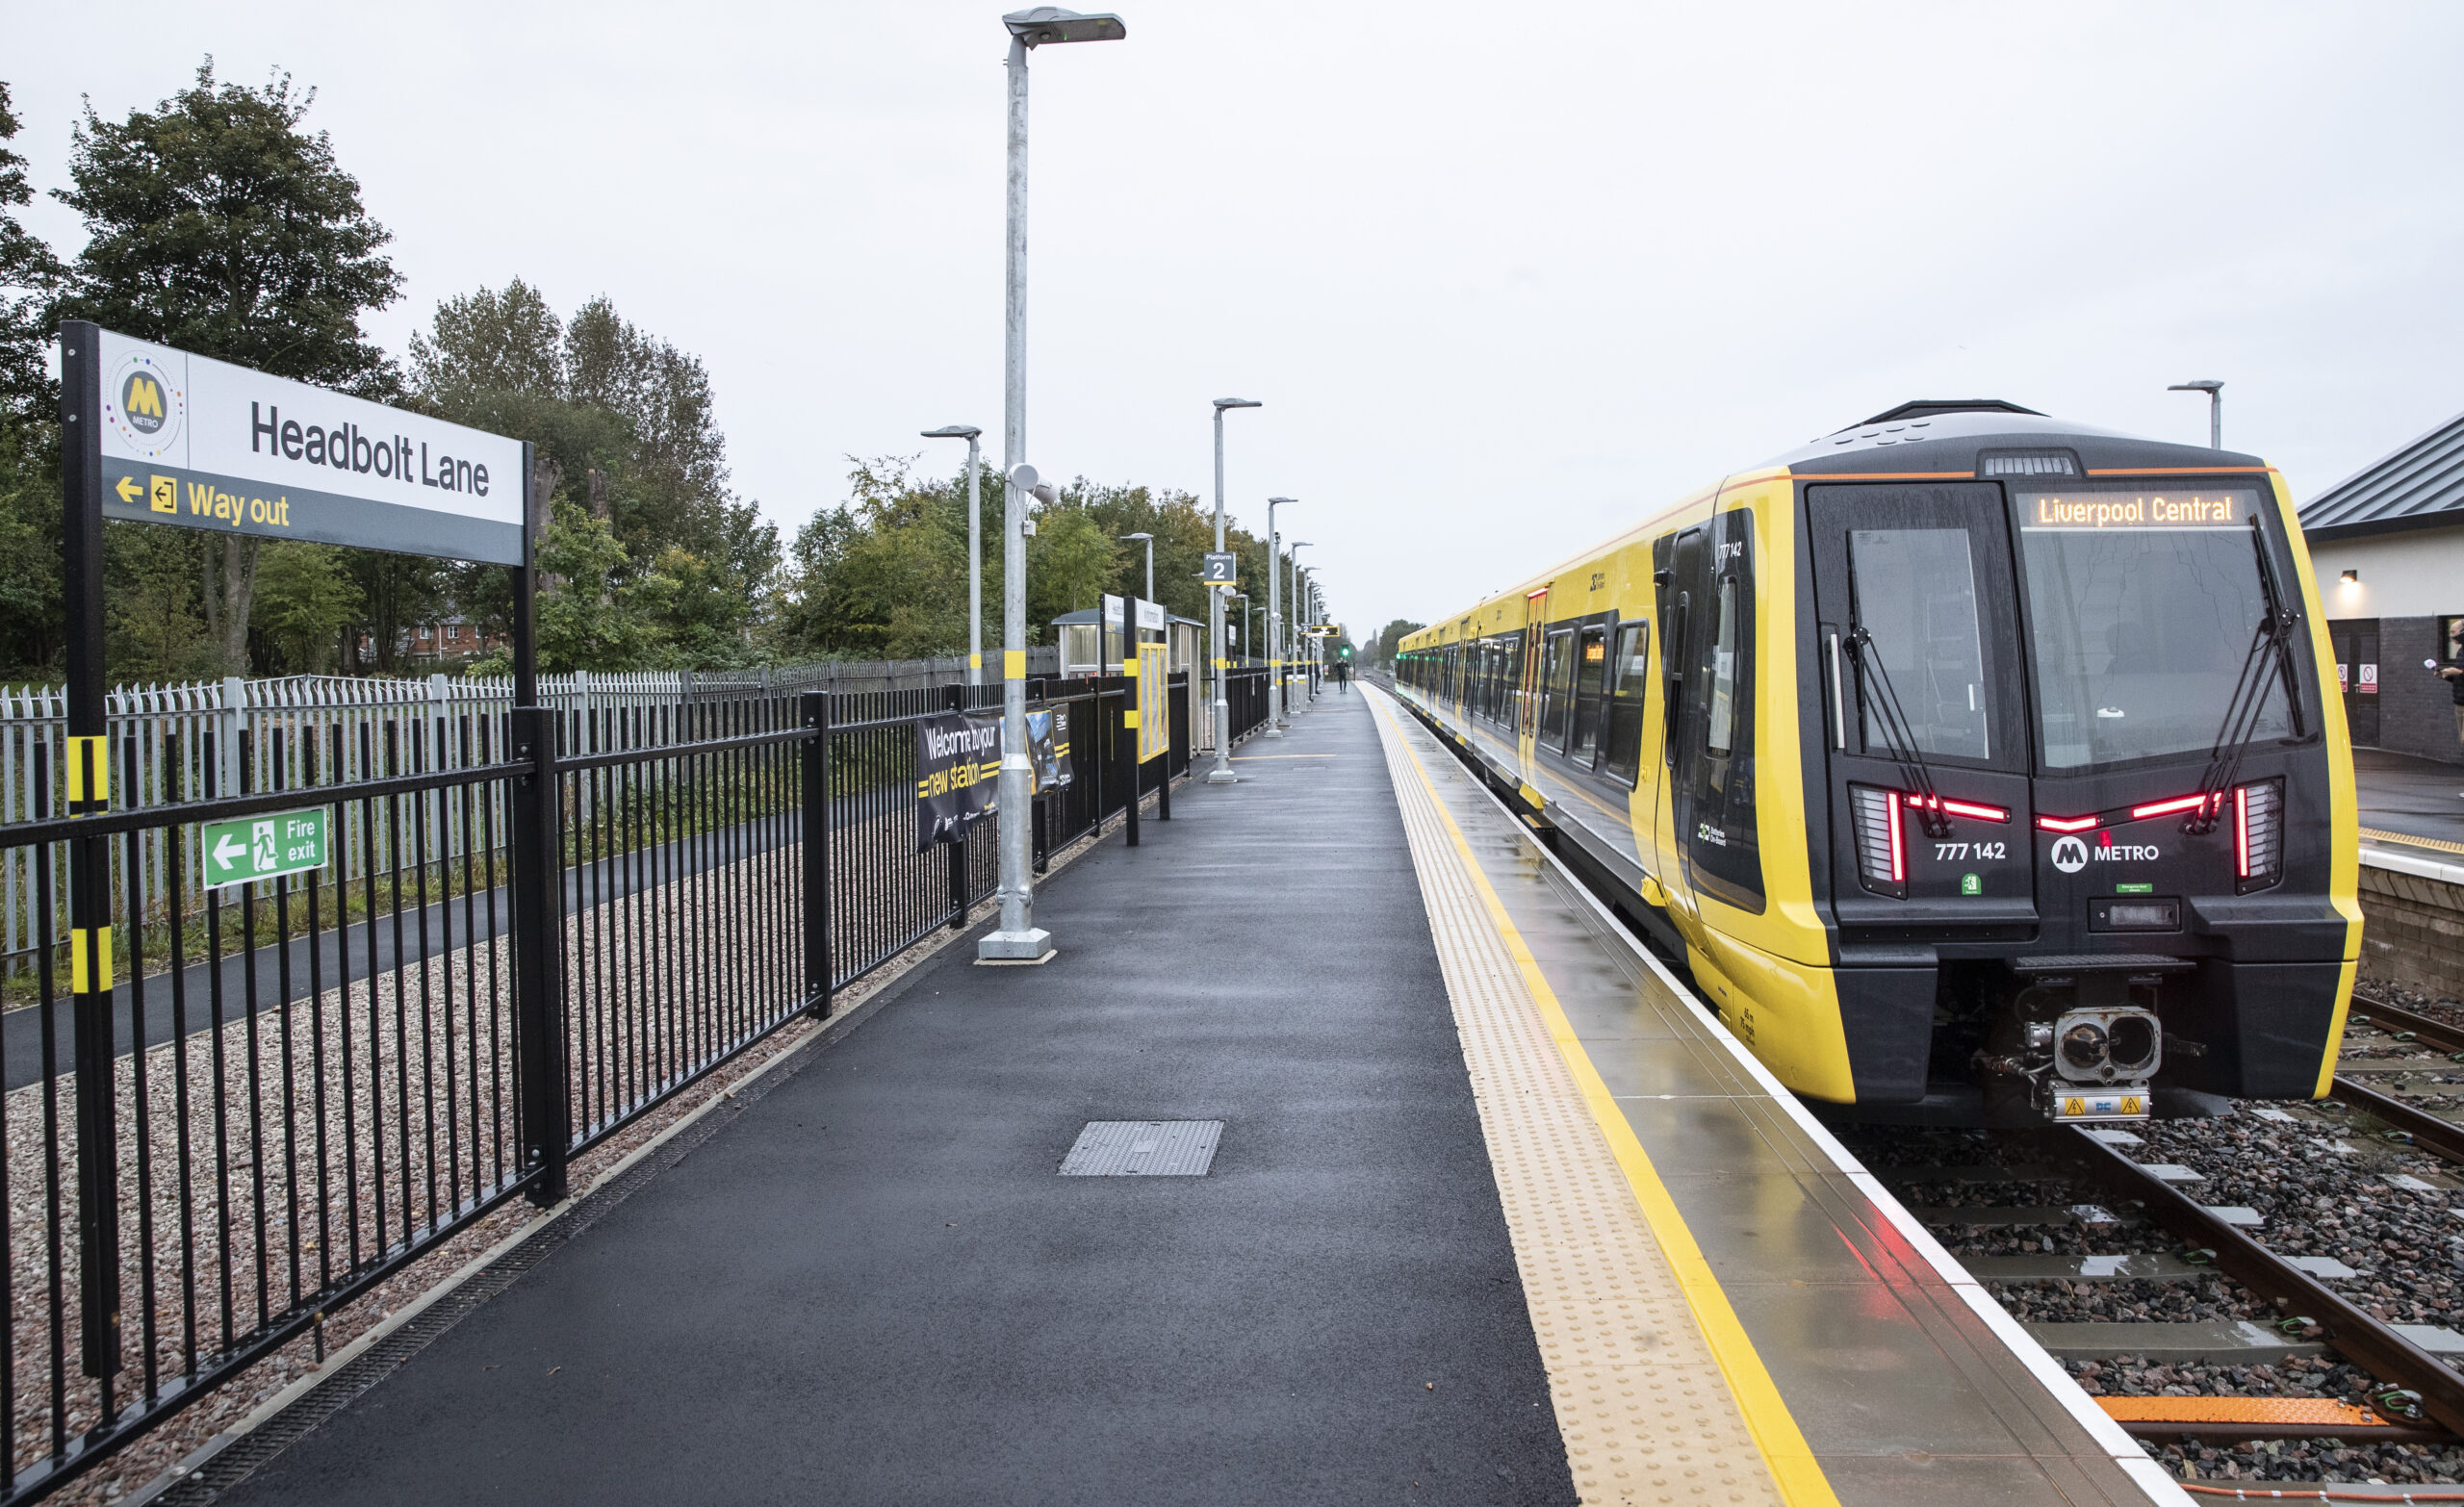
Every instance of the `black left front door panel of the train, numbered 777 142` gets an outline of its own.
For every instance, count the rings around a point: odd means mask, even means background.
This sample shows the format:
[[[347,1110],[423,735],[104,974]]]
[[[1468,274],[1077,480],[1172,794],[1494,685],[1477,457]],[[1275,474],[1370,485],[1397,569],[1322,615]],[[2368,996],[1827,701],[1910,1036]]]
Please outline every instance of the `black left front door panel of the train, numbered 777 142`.
[[[2033,921],[2001,488],[1809,488],[1806,515],[1841,926]]]

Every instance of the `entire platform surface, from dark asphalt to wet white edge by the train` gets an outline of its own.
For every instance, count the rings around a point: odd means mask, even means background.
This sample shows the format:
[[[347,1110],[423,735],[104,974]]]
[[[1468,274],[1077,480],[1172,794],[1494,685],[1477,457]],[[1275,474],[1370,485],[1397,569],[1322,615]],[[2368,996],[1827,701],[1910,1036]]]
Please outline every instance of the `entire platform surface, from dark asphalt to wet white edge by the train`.
[[[224,1500],[2186,1500],[1395,702],[1234,768]]]

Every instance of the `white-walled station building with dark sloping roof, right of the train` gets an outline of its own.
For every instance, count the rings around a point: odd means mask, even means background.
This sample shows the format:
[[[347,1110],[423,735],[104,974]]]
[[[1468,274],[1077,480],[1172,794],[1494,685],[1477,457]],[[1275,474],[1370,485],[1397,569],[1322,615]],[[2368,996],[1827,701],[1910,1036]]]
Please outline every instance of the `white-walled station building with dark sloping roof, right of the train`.
[[[2353,744],[2464,763],[2464,414],[2301,505]]]

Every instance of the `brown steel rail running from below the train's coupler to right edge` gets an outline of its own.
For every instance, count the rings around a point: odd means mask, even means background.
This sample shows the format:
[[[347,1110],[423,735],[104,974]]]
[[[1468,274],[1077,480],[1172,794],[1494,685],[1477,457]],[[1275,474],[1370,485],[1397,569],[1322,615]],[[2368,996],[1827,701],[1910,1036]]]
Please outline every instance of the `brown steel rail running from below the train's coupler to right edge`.
[[[2341,1293],[2284,1261],[2259,1241],[2225,1224],[2190,1194],[2149,1175],[2146,1167],[2085,1130],[2043,1133],[2050,1152],[2087,1167],[2094,1182],[2134,1199],[2149,1216],[2181,1239],[2215,1251],[2215,1266],[2284,1312],[2304,1315],[2326,1330],[2326,1342],[2380,1381],[2420,1394],[2422,1411],[2454,1433],[2464,1433],[2464,1374],[2447,1369],[2434,1354],[2370,1317]],[[2264,1428],[2242,1438],[2274,1438]]]

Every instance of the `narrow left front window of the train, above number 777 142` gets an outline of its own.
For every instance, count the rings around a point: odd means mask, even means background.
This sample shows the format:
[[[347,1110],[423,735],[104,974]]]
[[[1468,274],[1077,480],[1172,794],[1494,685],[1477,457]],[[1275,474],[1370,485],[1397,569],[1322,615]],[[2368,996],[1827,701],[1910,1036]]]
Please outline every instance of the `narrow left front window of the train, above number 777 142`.
[[[1976,616],[1966,529],[1853,529],[1855,621],[1890,675],[1917,754],[1993,758],[1993,694]],[[1880,697],[1865,702],[1865,746],[1880,749]]]

